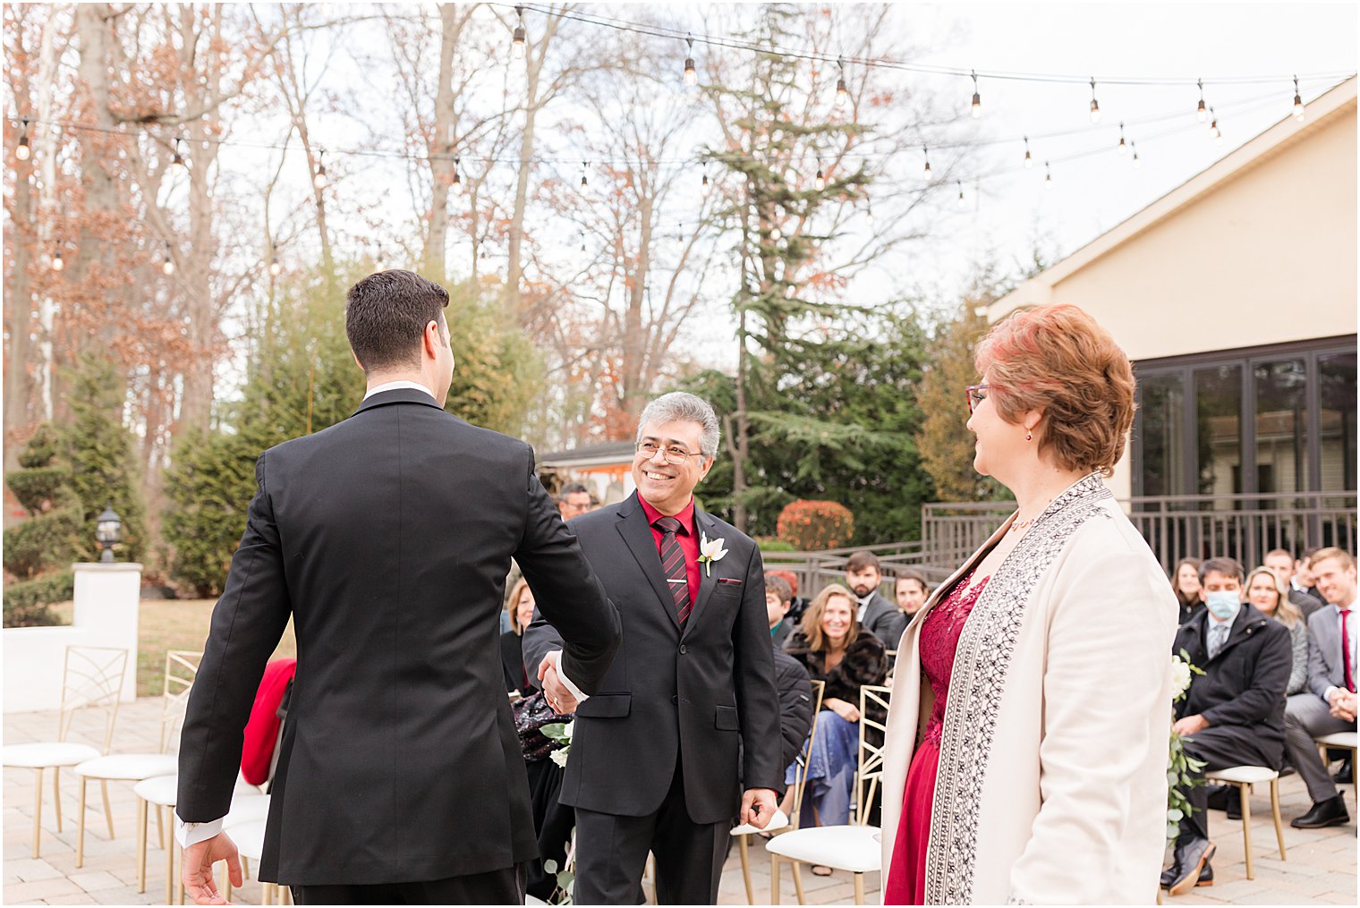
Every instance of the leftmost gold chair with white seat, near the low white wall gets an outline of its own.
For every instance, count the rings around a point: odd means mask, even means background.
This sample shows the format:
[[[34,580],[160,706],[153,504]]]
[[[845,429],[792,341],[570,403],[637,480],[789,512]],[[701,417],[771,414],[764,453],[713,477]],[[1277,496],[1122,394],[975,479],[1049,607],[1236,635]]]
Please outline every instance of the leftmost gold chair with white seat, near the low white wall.
[[[33,792],[34,858],[39,856],[38,845],[42,836],[42,773],[45,769],[52,769],[57,832],[61,832],[61,769],[76,767],[109,752],[109,745],[113,741],[113,727],[118,720],[118,700],[122,699],[122,678],[126,666],[126,650],[98,646],[68,646],[61,669],[61,710],[57,718],[57,739],[37,744],[15,744],[0,750],[7,769],[33,769],[37,773]],[[82,710],[102,710],[105,712],[103,744],[101,748],[67,741],[67,735],[71,733],[71,720]],[[103,791],[103,809],[112,835],[113,810],[109,806],[107,788]]]

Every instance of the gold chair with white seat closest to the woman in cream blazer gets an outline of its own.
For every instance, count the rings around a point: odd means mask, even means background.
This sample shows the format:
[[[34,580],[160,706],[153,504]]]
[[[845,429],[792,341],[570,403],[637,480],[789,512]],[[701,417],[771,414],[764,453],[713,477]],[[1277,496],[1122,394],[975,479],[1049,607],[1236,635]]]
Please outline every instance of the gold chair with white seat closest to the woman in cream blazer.
[[[884,744],[873,744],[869,730],[887,734],[883,722],[869,718],[869,707],[888,708],[892,688],[864,685],[860,688],[860,767],[855,772],[855,818],[846,826],[813,826],[812,829],[792,829],[766,843],[770,852],[770,903],[779,904],[779,865],[793,866],[793,888],[798,893],[798,904],[806,904],[802,892],[800,865],[823,865],[834,870],[854,874],[854,904],[864,904],[864,874],[879,870],[881,860],[880,832],[868,825],[873,798],[879,792],[883,776]]]

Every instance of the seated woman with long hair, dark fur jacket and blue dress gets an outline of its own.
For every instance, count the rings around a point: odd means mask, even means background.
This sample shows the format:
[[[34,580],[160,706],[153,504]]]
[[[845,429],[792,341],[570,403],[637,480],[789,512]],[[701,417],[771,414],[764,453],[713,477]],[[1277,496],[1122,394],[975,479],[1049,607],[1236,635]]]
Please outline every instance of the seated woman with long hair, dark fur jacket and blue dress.
[[[813,825],[813,810],[823,825],[845,825],[860,761],[860,688],[883,684],[888,657],[879,638],[861,629],[850,590],[836,583],[808,606],[787,650],[813,681],[826,682],[802,799],[804,825]],[[794,783],[792,772],[785,783]]]

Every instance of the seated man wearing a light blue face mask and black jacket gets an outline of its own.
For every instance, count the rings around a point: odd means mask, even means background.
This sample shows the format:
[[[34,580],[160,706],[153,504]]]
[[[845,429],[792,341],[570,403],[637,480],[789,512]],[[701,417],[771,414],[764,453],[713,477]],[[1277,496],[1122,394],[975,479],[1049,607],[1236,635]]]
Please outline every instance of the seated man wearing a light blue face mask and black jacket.
[[[1284,758],[1284,689],[1289,682],[1289,632],[1242,601],[1242,565],[1209,559],[1200,565],[1198,609],[1176,632],[1172,652],[1185,650],[1204,674],[1194,676],[1176,703],[1172,730],[1204,771],[1255,765],[1278,769]],[[1200,773],[1195,773],[1200,775]],[[1208,791],[1190,786],[1190,816],[1182,817],[1171,867],[1161,885],[1183,896],[1213,875],[1214,845],[1205,822]]]

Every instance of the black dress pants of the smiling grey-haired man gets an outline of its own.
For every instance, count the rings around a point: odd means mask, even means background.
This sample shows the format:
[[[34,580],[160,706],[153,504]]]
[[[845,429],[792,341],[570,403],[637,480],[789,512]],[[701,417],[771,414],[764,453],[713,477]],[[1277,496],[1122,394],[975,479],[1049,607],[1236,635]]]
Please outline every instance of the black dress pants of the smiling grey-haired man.
[[[657,859],[657,904],[715,905],[730,829],[730,820],[690,818],[679,760],[670,791],[656,813],[619,817],[577,807],[575,904],[643,904],[642,874],[650,851]]]

